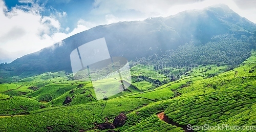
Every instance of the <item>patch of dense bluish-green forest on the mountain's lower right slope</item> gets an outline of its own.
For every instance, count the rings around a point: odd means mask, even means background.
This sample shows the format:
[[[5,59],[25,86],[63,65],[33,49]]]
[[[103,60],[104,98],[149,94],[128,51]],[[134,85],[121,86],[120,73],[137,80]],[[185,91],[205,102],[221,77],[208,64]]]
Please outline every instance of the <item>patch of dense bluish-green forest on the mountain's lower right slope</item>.
[[[240,39],[225,34],[216,35],[205,45],[195,45],[193,41],[168,50],[162,55],[154,54],[137,58],[140,64],[154,65],[155,70],[166,67],[189,67],[199,64],[227,64],[235,66],[250,56],[255,47],[255,37],[242,35]],[[193,66],[192,66],[193,67]]]

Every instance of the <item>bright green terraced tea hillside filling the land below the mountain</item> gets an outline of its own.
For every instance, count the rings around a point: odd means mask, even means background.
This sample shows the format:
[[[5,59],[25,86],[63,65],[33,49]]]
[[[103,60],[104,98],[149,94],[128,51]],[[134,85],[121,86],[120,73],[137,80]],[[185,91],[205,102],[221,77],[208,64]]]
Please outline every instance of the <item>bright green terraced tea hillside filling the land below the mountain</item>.
[[[205,124],[256,126],[255,62],[253,51],[234,69],[221,64],[170,68],[182,73],[172,81],[164,81],[172,78],[164,69],[135,65],[128,90],[104,100],[95,99],[90,82],[72,80],[65,72],[1,84],[0,131],[189,131],[189,126]]]

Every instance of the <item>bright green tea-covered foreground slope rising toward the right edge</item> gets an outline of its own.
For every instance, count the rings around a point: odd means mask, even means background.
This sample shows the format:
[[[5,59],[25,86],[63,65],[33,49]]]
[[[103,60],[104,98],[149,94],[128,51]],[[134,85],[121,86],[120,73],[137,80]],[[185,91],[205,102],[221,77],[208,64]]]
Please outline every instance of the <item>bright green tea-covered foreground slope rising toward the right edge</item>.
[[[127,120],[124,126],[116,130],[154,131],[162,130],[159,128],[163,126],[170,131],[182,130],[180,127],[157,119],[156,114],[162,111],[169,119],[184,125],[205,123],[255,125],[256,77],[254,76],[256,72],[249,73],[255,69],[255,55],[254,52],[234,71],[211,78],[205,78],[204,73],[196,75],[198,72],[194,71],[194,75],[191,73],[191,76],[183,76],[178,81],[170,82],[151,91],[125,94],[104,101],[84,101],[86,104],[75,105],[74,103],[66,107],[37,109],[25,116],[0,118],[0,131],[43,131],[50,128],[52,131],[78,131],[79,129],[94,131],[94,122],[102,123],[105,117],[113,119],[120,112],[126,114]],[[214,66],[211,67],[215,69]],[[212,70],[208,71],[212,72]],[[221,70],[218,71],[221,72]],[[84,87],[84,89],[89,88]],[[72,90],[75,90],[77,94],[80,91],[76,88]],[[64,94],[68,92],[70,90]],[[65,96],[60,95],[53,101],[61,103]]]

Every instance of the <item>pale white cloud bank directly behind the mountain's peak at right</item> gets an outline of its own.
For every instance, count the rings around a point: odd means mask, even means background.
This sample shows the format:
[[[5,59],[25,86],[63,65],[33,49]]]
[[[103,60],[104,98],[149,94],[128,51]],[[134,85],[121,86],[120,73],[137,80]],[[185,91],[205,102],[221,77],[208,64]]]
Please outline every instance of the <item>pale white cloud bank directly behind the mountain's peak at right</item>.
[[[147,17],[158,17],[158,16],[169,16],[177,14],[181,11],[188,9],[202,9],[215,4],[226,4],[232,10],[237,12],[239,15],[246,17],[247,19],[256,23],[256,17],[253,14],[256,14],[255,0],[130,0],[130,1],[118,1],[118,0],[95,0],[92,10],[94,15],[108,15],[112,14],[117,16],[119,12],[129,12],[136,11],[140,13],[140,18],[135,17],[134,15],[123,15],[123,17],[118,16],[115,21],[120,20],[141,20]],[[249,6],[250,5],[250,6]],[[252,7],[253,6],[253,7]],[[251,7],[251,8],[244,8]],[[106,18],[106,22],[108,22]]]

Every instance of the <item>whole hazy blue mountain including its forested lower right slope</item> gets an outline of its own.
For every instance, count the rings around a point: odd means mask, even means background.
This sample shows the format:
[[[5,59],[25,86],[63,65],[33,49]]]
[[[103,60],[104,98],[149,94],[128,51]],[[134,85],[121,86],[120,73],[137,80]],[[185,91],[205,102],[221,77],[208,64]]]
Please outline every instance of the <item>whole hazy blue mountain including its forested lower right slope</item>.
[[[167,64],[238,64],[248,58],[250,50],[255,48],[255,30],[255,24],[225,5],[184,11],[168,17],[102,25],[62,40],[61,46],[56,43],[20,57],[10,64],[1,64],[0,81],[11,82],[46,72],[71,73],[71,52],[84,43],[102,37],[105,38],[110,56],[122,56],[129,61],[171,54],[172,58],[168,58],[170,60]],[[229,36],[222,39],[222,42],[216,41],[222,35]],[[223,41],[225,45],[222,46]],[[185,43],[190,42],[195,47],[187,49]],[[226,49],[226,52],[223,53],[222,49]],[[169,51],[174,51],[174,54]],[[193,61],[195,58],[196,61]]]

